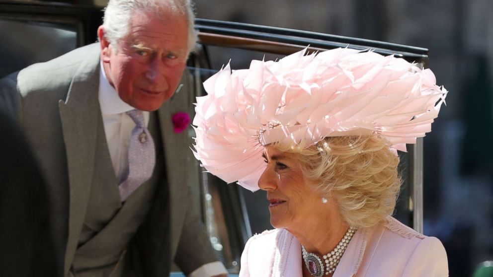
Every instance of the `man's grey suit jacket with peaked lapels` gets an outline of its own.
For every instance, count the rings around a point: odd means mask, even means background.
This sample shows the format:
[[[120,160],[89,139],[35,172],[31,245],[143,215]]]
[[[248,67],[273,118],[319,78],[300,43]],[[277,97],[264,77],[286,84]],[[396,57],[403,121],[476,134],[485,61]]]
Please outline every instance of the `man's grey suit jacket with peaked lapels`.
[[[63,276],[77,248],[98,157],[99,53],[98,44],[88,45],[0,81],[0,100],[17,111],[49,185]],[[182,83],[182,90],[193,89],[188,74]],[[193,112],[189,98],[181,91],[157,111],[167,180],[160,182],[153,207],[128,246],[128,276],[166,276],[173,259],[185,274],[217,260],[190,204],[190,187],[197,186],[199,176],[190,139],[186,131],[173,133],[171,122],[177,111]]]

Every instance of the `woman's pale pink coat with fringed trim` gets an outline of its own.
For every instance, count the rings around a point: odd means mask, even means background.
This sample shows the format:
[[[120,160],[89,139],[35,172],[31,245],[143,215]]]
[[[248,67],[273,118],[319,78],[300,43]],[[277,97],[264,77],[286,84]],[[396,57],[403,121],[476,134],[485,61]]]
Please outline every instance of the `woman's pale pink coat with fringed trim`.
[[[240,277],[301,277],[301,244],[285,229],[251,237]],[[359,229],[333,277],[446,277],[447,254],[435,237],[417,233],[393,217]]]

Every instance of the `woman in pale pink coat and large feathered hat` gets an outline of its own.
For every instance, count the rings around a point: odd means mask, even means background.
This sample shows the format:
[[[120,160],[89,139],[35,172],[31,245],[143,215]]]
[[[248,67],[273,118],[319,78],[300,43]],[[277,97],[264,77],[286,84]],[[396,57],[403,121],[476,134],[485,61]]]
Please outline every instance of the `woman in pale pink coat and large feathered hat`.
[[[393,56],[304,54],[227,66],[197,98],[196,157],[267,191],[276,228],[248,240],[240,276],[448,276],[440,241],[390,216],[397,150],[431,130],[446,90]]]

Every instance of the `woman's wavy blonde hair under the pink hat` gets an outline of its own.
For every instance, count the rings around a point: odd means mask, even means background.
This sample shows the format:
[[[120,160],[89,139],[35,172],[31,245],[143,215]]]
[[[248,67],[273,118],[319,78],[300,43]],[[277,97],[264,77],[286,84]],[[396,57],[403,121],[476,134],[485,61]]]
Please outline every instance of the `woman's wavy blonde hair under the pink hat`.
[[[343,219],[353,227],[371,227],[396,206],[401,177],[399,157],[378,135],[330,137],[304,148],[274,144],[294,153],[306,180],[321,197],[332,195]]]

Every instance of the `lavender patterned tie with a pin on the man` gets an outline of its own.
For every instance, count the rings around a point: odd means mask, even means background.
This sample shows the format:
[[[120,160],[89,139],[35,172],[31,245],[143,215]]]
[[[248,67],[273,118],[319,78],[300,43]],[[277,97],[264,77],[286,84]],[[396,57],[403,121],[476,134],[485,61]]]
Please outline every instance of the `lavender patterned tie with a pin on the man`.
[[[144,114],[139,110],[127,114],[136,126],[128,147],[128,177],[119,186],[122,202],[151,177],[156,163],[154,141],[144,123]]]

